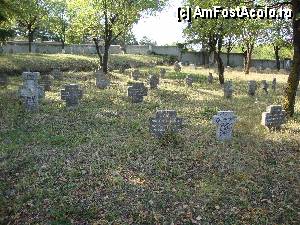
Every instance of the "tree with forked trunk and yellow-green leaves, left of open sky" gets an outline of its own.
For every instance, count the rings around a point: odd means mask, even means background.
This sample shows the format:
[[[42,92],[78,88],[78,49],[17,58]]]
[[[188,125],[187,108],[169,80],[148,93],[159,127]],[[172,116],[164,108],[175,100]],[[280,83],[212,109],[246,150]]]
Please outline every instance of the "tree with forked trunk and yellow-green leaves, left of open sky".
[[[70,0],[72,28],[83,27],[79,35],[92,36],[104,73],[108,70],[111,44],[139,20],[143,13],[161,9],[166,0]],[[83,26],[80,24],[82,23]],[[104,45],[104,50],[101,49]]]

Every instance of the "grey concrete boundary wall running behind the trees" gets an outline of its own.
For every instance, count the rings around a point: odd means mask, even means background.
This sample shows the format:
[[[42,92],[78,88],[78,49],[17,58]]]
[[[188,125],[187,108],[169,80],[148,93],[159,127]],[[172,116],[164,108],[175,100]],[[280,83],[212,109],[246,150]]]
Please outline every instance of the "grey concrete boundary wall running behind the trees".
[[[104,50],[101,47],[102,51]],[[12,41],[7,42],[4,46],[0,46],[0,53],[14,54],[14,53],[27,53],[28,42]],[[32,43],[33,53],[57,54],[62,52],[62,44],[60,42],[34,42]],[[122,54],[121,46],[112,45],[109,50],[110,54]],[[96,54],[96,48],[93,43],[91,44],[78,44],[78,45],[65,45],[65,53],[67,54]],[[154,53],[157,55],[168,55],[177,57],[178,60],[185,64],[195,64],[198,66],[208,65],[209,57],[204,51],[200,52],[186,52],[180,54],[180,49],[177,46],[148,46],[148,45],[128,45],[126,46],[127,54],[140,54],[146,55]],[[224,66],[243,67],[244,57],[242,53],[230,53],[229,65],[227,65],[227,55],[221,54]],[[252,67],[258,69],[276,69],[275,60],[252,60]],[[287,68],[287,62],[281,61],[280,68]]]

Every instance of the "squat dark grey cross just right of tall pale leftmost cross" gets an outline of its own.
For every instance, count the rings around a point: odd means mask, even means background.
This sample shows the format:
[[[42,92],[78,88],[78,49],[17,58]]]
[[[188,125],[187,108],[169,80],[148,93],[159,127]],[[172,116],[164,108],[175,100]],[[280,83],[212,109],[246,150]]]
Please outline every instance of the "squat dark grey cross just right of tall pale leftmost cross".
[[[76,107],[83,96],[83,91],[79,89],[78,84],[67,84],[65,89],[61,90],[61,99],[66,101],[67,107]]]

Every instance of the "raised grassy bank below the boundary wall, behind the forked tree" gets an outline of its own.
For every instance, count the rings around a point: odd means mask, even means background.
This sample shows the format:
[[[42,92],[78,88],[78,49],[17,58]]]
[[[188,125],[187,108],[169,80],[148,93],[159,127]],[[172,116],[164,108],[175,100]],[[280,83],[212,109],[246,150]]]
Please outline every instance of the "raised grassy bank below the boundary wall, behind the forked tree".
[[[150,66],[153,63],[163,63],[166,60],[161,56],[141,55],[111,55],[109,66],[112,69],[125,66],[129,68],[134,63],[137,66]],[[20,75],[23,71],[39,71],[49,73],[54,67],[62,71],[93,71],[98,68],[99,59],[95,55],[69,54],[8,54],[0,55],[0,72],[9,75]]]

